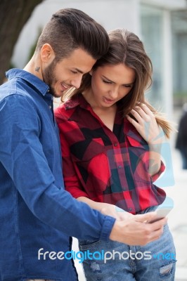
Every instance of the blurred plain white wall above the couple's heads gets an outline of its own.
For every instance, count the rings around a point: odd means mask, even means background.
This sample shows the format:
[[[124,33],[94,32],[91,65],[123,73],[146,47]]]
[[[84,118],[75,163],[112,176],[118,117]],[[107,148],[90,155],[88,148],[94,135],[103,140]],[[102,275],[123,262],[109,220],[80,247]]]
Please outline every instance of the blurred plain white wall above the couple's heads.
[[[68,2],[68,4],[67,4]],[[61,8],[78,8],[100,22],[106,30],[125,27],[139,34],[139,0],[46,0],[39,4],[23,28],[13,53],[15,67],[27,63],[30,46],[37,38],[39,27],[49,21]]]

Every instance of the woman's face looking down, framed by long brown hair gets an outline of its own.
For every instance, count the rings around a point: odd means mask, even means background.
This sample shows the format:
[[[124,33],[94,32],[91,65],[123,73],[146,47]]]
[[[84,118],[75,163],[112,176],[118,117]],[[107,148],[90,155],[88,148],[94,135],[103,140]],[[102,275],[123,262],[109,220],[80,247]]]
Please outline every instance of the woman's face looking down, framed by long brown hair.
[[[135,71],[122,63],[98,67],[91,75],[92,99],[99,107],[110,107],[124,98],[136,78]]]

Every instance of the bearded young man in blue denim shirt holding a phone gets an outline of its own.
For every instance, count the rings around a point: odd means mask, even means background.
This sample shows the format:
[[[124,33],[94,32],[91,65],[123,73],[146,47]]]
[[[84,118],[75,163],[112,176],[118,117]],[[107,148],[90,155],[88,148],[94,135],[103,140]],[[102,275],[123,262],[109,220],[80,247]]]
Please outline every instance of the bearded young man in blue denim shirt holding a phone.
[[[78,88],[108,50],[108,35],[82,11],[55,13],[24,70],[0,87],[0,280],[77,280],[70,236],[146,244],[162,234],[155,214],[115,221],[65,192],[53,96]],[[66,257],[66,258],[65,258]]]

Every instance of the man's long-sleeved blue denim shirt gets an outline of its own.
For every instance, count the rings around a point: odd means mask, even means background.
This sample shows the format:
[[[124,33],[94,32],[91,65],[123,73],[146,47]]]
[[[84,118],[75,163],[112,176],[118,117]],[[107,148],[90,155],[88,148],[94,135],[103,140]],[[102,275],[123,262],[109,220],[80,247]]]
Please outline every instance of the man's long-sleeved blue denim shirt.
[[[115,219],[64,190],[49,86],[24,70],[7,77],[0,87],[0,280],[77,280],[62,253],[70,236],[108,240]]]

